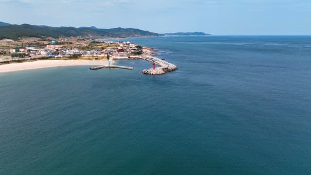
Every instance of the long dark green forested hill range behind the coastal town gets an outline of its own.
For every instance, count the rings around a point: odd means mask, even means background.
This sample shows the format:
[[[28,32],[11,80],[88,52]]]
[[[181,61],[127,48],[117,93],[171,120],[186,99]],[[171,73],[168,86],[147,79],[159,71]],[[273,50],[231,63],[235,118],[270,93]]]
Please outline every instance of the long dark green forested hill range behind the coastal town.
[[[113,28],[113,29],[98,29],[96,27],[49,27],[37,26],[30,24],[21,25],[6,25],[0,26],[0,39],[17,40],[21,37],[53,37],[60,36],[85,36],[85,37],[136,37],[136,36],[158,36],[159,34],[140,29],[132,28]]]

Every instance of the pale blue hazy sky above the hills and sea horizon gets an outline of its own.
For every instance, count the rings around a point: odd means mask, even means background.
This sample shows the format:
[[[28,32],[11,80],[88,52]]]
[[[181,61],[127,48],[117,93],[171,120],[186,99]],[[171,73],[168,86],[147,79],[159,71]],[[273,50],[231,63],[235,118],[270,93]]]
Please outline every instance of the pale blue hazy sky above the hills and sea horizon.
[[[0,0],[0,21],[155,33],[311,35],[311,0]]]

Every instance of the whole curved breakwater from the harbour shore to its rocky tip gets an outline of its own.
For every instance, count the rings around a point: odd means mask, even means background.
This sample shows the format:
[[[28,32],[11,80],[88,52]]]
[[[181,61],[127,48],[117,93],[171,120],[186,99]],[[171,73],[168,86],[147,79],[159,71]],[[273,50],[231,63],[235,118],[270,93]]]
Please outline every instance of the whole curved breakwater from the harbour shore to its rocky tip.
[[[155,56],[151,56],[151,55],[143,55],[143,56],[135,56],[135,57],[114,57],[113,59],[143,59],[146,61],[149,61],[159,67],[157,68],[150,68],[150,69],[145,69],[142,70],[141,73],[144,74],[151,74],[151,75],[161,75],[164,74],[166,72],[170,72],[173,70],[177,70],[178,67],[172,63],[169,63],[167,61],[164,61],[160,58],[157,58]]]

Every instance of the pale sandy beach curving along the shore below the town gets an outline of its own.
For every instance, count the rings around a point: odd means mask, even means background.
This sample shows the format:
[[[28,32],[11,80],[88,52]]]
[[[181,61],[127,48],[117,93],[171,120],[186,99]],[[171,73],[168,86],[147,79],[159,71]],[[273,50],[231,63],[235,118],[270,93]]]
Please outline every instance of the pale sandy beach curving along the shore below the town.
[[[107,60],[39,60],[24,63],[11,63],[0,65],[0,72],[17,70],[31,70],[40,68],[51,68],[60,66],[101,66],[107,65]]]

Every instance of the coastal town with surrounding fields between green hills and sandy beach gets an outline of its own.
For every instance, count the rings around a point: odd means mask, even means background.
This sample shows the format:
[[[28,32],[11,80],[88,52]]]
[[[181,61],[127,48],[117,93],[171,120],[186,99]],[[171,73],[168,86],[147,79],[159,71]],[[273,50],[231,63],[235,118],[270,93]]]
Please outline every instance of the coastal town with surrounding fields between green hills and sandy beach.
[[[60,41],[56,39],[50,39],[47,42],[39,42],[37,47],[32,46],[35,42],[16,43],[7,40],[9,45],[0,47],[0,62],[31,59],[40,57],[103,57],[107,55],[111,56],[127,56],[127,55],[139,55],[142,54],[142,47],[133,44],[130,41],[127,42],[104,42],[99,39],[90,39],[89,41],[77,40],[74,38],[62,39]],[[23,47],[26,46],[26,47]]]

